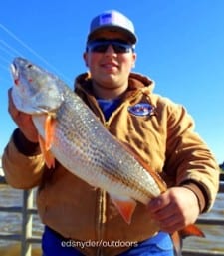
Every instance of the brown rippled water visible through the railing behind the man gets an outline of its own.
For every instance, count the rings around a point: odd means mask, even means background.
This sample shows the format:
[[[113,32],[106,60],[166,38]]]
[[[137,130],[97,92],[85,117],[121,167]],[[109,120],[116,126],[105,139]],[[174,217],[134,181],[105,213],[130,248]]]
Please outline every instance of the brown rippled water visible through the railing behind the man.
[[[23,194],[21,190],[10,188],[7,185],[0,185],[0,206],[22,206]],[[224,219],[224,194],[217,196],[215,205],[210,213],[204,214],[208,218]],[[1,233],[21,233],[21,214],[0,212],[0,232]],[[33,220],[34,235],[41,235],[43,225],[40,223],[39,217],[34,216]],[[224,228],[223,226],[205,226],[200,228],[205,233],[206,238],[190,237],[184,240],[184,248],[197,250],[218,250],[224,252]],[[20,246],[18,242],[6,241],[0,239],[0,255],[16,256],[20,255]],[[40,246],[34,245],[32,256],[40,256]]]

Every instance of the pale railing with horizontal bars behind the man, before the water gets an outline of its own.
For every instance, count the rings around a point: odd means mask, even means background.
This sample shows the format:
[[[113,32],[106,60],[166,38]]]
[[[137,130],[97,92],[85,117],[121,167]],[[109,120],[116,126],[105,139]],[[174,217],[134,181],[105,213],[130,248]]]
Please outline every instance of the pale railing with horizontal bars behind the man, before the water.
[[[0,176],[0,185],[6,184],[6,181],[3,176]],[[224,193],[224,174],[221,174],[220,178],[220,189],[219,193]],[[21,213],[22,214],[22,232],[21,234],[6,234],[0,231],[0,240],[8,241],[19,241],[21,243],[21,256],[31,256],[32,244],[40,244],[41,237],[34,236],[32,234],[33,229],[33,215],[37,214],[37,209],[34,207],[33,199],[34,190],[24,190],[23,191],[23,205],[18,206],[0,206],[0,212],[8,213]],[[199,218],[197,221],[198,224],[206,225],[221,225],[224,227],[224,218],[223,219],[204,219]],[[224,256],[224,252],[219,251],[202,251],[198,248],[184,249],[183,256]]]

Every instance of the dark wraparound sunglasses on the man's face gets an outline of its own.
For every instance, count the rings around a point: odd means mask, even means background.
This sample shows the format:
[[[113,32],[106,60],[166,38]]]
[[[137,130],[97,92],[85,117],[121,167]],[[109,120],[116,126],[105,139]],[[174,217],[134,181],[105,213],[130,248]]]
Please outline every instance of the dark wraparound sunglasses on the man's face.
[[[112,46],[115,53],[124,54],[133,51],[133,46],[121,40],[94,40],[87,44],[87,51],[105,53]]]

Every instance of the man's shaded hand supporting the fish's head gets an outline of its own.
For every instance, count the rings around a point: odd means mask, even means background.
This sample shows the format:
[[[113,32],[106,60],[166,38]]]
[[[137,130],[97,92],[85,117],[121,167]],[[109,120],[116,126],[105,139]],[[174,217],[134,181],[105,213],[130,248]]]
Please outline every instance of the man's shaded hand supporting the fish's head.
[[[12,100],[11,92],[12,92],[12,89],[9,89],[8,91],[9,114],[11,115],[14,122],[17,124],[17,126],[20,128],[20,130],[23,132],[24,136],[28,140],[35,143],[38,142],[38,132],[33,124],[31,115],[25,114],[16,109]]]

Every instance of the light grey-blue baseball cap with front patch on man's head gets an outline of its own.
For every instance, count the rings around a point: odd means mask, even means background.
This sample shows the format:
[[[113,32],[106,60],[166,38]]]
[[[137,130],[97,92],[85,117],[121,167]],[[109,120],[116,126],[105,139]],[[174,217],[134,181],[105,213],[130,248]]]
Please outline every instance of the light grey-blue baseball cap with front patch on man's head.
[[[126,16],[115,10],[106,11],[92,20],[87,41],[94,39],[96,32],[105,29],[125,34],[133,45],[137,42],[133,23]]]

